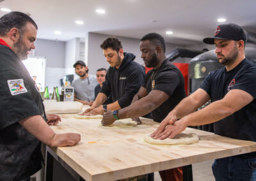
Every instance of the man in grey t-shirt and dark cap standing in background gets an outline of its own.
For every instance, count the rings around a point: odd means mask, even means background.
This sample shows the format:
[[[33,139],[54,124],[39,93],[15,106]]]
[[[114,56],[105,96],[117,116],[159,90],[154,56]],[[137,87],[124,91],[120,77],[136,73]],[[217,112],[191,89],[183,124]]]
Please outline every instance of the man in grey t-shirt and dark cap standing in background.
[[[98,85],[96,76],[88,74],[89,69],[83,61],[77,61],[73,67],[79,76],[71,83],[75,89],[74,101],[89,105],[94,99],[94,89]]]

